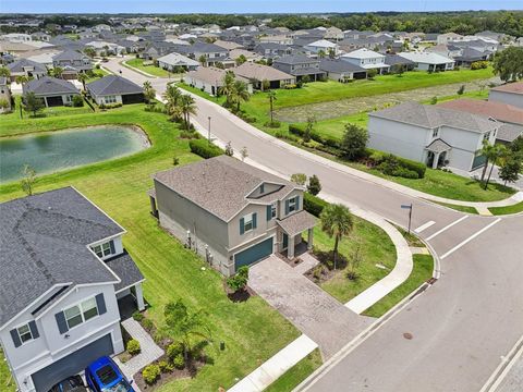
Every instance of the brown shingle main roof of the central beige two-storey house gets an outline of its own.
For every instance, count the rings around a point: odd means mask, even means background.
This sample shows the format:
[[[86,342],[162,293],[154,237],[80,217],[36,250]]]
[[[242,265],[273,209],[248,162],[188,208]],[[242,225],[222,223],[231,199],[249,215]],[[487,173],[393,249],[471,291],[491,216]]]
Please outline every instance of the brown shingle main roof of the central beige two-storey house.
[[[227,156],[158,172],[154,179],[226,222],[251,203],[270,205],[297,188],[287,180]],[[263,183],[279,187],[268,195],[250,198]]]

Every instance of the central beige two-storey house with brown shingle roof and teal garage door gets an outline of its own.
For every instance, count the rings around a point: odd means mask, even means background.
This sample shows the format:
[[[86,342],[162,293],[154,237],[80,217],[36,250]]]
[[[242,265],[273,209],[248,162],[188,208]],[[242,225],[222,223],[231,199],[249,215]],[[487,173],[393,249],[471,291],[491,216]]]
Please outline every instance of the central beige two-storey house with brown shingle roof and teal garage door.
[[[316,220],[303,209],[304,188],[220,156],[154,175],[149,192],[160,225],[210,266],[231,275],[273,253],[294,249]]]

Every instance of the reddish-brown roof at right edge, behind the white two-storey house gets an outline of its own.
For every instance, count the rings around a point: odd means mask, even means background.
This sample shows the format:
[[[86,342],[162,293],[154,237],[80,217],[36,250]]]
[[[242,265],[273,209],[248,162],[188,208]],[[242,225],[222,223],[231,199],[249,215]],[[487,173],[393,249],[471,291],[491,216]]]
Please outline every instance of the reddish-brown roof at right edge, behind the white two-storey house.
[[[438,106],[523,125],[523,109],[503,102],[462,98]]]

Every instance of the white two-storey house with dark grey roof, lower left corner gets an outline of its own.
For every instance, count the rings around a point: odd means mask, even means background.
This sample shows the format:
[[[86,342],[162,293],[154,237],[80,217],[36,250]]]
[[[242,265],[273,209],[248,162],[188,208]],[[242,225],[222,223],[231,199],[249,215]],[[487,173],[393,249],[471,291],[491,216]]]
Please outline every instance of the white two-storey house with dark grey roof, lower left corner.
[[[0,204],[0,342],[21,392],[124,350],[119,299],[144,309],[125,230],[72,187]],[[134,301],[134,299],[133,299]]]

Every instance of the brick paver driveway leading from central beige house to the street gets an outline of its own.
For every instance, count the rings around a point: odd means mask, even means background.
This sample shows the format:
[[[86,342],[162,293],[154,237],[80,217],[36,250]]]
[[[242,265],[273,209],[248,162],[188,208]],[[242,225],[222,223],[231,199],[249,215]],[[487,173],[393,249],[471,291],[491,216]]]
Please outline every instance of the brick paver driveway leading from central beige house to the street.
[[[277,256],[270,256],[250,269],[248,285],[315,341],[325,359],[372,321],[349,310]]]

